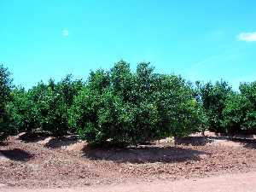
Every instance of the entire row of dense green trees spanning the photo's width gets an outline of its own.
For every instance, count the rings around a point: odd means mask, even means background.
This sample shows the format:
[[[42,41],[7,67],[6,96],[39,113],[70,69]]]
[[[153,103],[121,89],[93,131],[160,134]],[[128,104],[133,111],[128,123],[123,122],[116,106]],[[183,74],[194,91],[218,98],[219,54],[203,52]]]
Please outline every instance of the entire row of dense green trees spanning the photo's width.
[[[154,73],[142,62],[132,72],[119,61],[90,72],[86,81],[67,75],[30,90],[12,84],[0,65],[0,140],[21,131],[55,137],[79,134],[92,144],[138,144],[197,131],[255,131],[256,82],[239,91],[220,80],[191,84],[181,76]]]

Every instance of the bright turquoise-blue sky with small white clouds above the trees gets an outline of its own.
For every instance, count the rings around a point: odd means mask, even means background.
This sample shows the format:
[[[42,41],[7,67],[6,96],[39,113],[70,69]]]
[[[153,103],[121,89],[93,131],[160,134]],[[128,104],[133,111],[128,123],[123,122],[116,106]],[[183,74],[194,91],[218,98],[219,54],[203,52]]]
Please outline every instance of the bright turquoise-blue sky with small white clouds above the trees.
[[[255,0],[0,0],[0,62],[26,88],[124,59],[158,73],[256,80]]]

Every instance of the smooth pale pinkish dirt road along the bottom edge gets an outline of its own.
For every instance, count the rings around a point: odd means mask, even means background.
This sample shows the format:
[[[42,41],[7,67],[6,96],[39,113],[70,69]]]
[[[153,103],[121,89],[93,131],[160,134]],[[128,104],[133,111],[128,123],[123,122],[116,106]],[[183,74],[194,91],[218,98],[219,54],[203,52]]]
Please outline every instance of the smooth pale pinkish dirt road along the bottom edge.
[[[256,172],[227,174],[218,177],[160,181],[153,183],[125,183],[85,187],[82,189],[4,189],[1,192],[253,192],[256,191]]]

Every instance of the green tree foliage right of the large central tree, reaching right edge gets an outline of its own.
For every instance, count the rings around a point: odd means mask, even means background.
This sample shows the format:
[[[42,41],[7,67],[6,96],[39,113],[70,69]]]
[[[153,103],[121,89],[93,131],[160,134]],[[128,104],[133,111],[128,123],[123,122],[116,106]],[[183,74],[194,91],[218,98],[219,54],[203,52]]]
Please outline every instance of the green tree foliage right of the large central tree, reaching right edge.
[[[240,84],[239,92],[224,81],[197,83],[197,90],[210,130],[231,134],[256,131],[256,82]]]

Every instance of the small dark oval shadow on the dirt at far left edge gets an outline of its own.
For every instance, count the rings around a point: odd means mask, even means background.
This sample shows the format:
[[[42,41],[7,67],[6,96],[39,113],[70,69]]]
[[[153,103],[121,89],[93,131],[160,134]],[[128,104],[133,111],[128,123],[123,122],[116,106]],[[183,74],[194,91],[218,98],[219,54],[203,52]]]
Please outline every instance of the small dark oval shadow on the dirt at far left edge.
[[[20,148],[14,148],[10,150],[0,150],[0,153],[3,154],[9,160],[15,160],[15,161],[28,161],[34,157],[34,154],[30,154]]]

